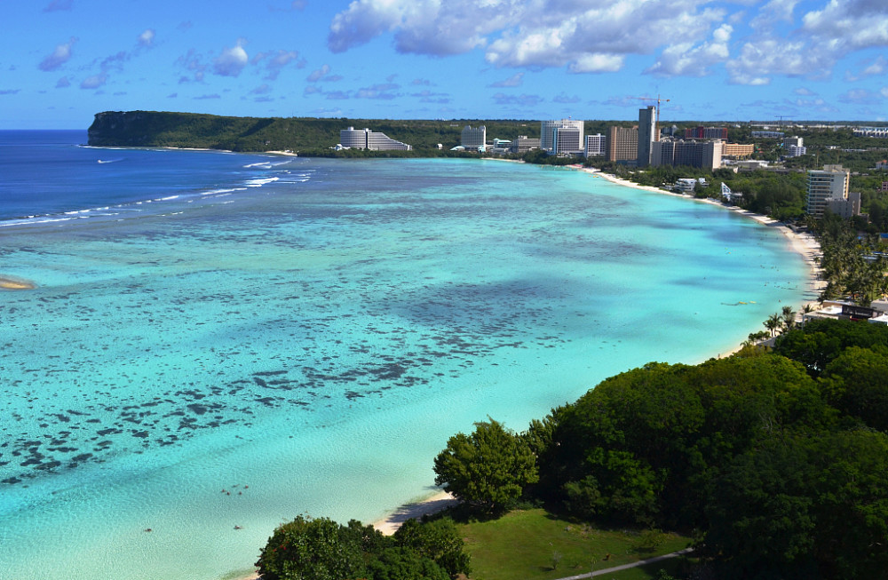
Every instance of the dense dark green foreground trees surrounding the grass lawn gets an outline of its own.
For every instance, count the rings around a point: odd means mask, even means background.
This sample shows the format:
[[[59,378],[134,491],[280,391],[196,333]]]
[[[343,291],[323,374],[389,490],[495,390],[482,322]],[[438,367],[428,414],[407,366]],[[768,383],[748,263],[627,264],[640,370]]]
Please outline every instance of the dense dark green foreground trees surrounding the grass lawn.
[[[682,577],[884,578],[886,429],[888,328],[815,320],[785,332],[773,350],[748,346],[698,365],[651,362],[607,378],[521,433],[488,417],[451,437],[434,470],[463,502],[450,514],[457,520],[541,505],[601,527],[683,531],[696,540]],[[275,532],[257,566],[272,580],[406,580],[440,577],[439,569],[471,577],[471,562],[456,556],[461,539],[443,533],[450,520],[437,521],[434,533],[419,531],[428,522],[402,533],[423,536],[416,542],[425,552],[408,556],[396,535],[356,555],[344,575],[323,576],[305,555],[320,536],[286,536],[305,528],[297,520]],[[353,545],[384,542],[358,522],[338,529],[363,538]],[[288,560],[297,545],[301,555]],[[399,575],[383,552],[392,562],[428,562]],[[459,564],[433,555],[445,553]]]

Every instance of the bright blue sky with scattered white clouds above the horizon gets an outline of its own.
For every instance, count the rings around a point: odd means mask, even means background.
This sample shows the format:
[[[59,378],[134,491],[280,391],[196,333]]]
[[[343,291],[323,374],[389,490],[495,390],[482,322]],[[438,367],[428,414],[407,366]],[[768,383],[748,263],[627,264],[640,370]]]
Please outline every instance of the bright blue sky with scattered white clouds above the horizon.
[[[105,110],[888,117],[886,0],[4,0],[0,129]]]

